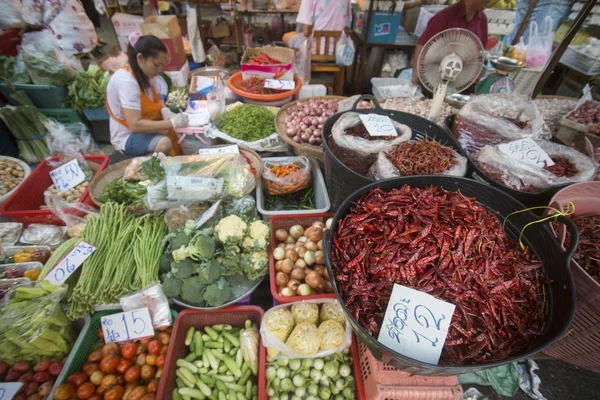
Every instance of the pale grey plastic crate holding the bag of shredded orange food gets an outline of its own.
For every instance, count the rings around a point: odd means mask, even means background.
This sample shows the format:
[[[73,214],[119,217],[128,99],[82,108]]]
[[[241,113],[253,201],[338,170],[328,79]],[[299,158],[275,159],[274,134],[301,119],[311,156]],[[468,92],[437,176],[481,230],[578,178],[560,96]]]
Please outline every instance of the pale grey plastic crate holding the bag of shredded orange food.
[[[281,161],[288,159],[289,157],[266,157],[263,161]],[[262,191],[262,179],[256,180],[256,206],[258,212],[263,216],[264,219],[268,220],[270,217],[275,215],[315,215],[329,211],[331,203],[329,202],[329,195],[327,194],[327,186],[325,186],[325,179],[323,179],[323,173],[319,168],[319,163],[309,158],[312,175],[313,192],[315,194],[315,209],[314,210],[285,210],[285,211],[268,211],[265,210],[265,197]]]

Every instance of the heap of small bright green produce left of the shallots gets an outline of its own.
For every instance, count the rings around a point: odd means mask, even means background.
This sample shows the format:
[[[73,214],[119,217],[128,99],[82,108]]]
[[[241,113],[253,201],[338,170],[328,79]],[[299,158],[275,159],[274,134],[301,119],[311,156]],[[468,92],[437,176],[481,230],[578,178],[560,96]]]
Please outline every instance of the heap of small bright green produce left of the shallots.
[[[265,107],[242,104],[219,115],[215,125],[231,137],[255,142],[275,132],[275,114]]]

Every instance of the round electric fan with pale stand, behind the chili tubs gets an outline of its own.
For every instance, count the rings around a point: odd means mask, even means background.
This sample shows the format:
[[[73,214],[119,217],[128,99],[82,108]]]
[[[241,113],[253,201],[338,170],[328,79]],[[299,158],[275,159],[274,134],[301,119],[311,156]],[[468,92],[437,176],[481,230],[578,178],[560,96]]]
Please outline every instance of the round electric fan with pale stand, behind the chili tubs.
[[[433,93],[429,119],[437,122],[448,86],[462,92],[479,77],[483,68],[483,45],[473,32],[447,29],[433,36],[419,55],[421,83]]]

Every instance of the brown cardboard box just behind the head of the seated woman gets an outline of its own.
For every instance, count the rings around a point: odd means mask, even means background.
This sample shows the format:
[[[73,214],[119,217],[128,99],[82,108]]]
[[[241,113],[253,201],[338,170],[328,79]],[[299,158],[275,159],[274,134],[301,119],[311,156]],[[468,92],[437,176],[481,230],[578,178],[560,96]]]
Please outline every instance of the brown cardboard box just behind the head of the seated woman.
[[[170,61],[164,66],[165,71],[179,71],[187,62],[181,28],[174,15],[148,17],[141,24],[143,35],[154,35],[167,46]]]

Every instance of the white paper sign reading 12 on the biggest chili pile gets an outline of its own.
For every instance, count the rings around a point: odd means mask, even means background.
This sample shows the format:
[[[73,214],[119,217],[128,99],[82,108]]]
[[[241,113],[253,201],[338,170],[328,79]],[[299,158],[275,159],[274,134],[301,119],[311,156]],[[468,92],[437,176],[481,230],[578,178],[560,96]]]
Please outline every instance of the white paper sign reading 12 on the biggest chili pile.
[[[395,284],[377,340],[406,357],[437,364],[454,308],[427,293]]]

